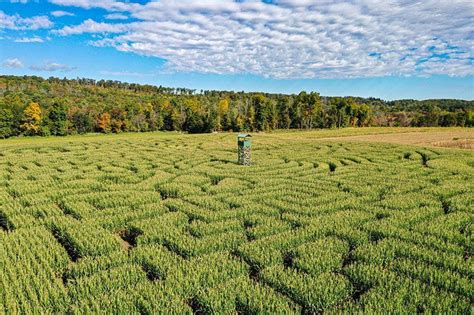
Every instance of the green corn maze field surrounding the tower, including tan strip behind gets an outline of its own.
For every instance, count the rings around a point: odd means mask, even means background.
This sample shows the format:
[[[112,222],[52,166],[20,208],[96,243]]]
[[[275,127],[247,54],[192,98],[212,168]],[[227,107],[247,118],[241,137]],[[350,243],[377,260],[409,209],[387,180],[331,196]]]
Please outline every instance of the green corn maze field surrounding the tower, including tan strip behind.
[[[472,138],[0,141],[0,314],[470,314],[474,151],[439,142]]]

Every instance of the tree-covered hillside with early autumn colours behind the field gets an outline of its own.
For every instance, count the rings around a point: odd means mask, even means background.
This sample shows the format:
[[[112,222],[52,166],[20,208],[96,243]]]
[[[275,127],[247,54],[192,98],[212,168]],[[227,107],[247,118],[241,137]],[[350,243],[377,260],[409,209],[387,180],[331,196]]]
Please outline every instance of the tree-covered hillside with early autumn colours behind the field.
[[[474,101],[204,91],[112,80],[0,76],[0,138],[157,130],[204,133],[474,126]]]

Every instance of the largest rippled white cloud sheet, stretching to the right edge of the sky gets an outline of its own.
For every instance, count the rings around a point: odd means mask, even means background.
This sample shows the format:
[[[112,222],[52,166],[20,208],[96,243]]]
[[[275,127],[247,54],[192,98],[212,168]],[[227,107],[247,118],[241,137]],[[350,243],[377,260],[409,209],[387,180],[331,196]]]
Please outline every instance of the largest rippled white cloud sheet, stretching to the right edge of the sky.
[[[472,75],[470,0],[51,0],[122,12],[56,31],[100,34],[95,46],[167,60],[171,71],[272,78]]]

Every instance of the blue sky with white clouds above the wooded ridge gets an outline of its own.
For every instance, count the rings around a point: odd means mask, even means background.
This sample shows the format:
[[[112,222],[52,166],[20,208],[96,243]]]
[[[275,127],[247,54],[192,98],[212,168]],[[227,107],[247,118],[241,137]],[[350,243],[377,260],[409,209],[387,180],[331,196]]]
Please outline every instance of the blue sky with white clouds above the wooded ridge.
[[[0,0],[0,74],[474,99],[472,0]]]

